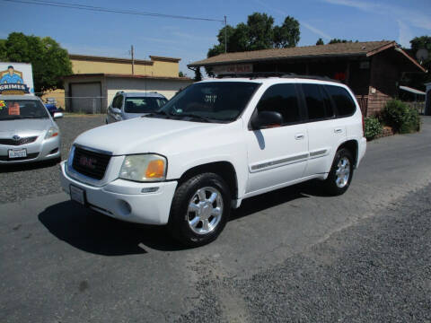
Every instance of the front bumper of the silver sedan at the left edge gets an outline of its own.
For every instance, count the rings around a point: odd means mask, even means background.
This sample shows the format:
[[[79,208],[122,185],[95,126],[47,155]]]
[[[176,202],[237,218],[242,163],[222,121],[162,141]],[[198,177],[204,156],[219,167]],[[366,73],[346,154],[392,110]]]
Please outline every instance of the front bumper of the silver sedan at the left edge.
[[[18,164],[24,162],[42,162],[60,157],[60,135],[44,139],[44,135],[31,144],[22,145],[5,145],[0,144],[0,164]],[[27,158],[25,159],[8,159],[9,149],[27,150]]]

